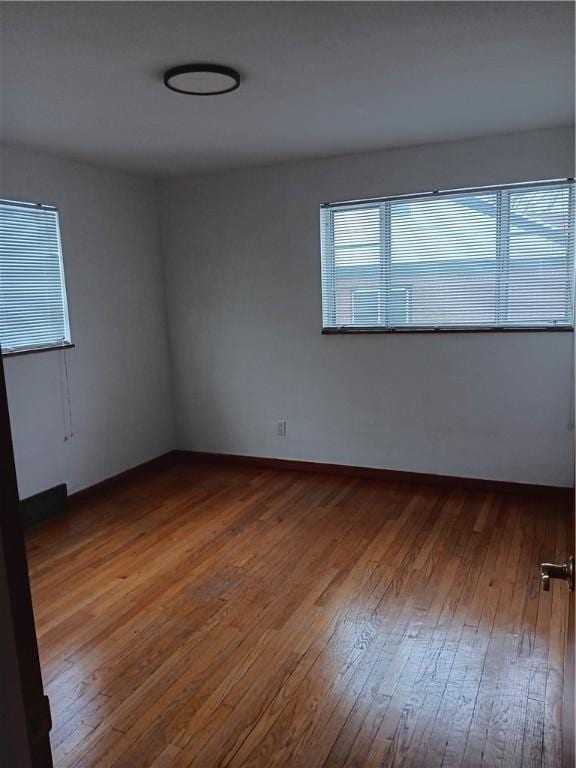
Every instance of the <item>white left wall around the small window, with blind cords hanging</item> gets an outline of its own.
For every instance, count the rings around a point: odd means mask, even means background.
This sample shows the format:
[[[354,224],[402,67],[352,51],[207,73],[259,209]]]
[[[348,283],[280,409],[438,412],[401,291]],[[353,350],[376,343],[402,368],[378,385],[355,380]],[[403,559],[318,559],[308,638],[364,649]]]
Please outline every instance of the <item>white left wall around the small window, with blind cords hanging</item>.
[[[76,345],[4,359],[21,497],[77,490],[170,450],[154,182],[6,147],[0,194],[59,207]]]

